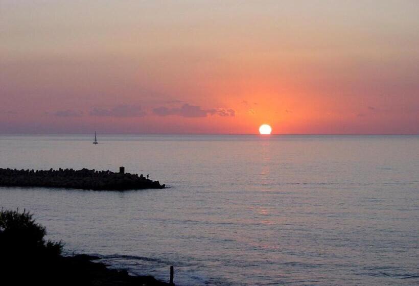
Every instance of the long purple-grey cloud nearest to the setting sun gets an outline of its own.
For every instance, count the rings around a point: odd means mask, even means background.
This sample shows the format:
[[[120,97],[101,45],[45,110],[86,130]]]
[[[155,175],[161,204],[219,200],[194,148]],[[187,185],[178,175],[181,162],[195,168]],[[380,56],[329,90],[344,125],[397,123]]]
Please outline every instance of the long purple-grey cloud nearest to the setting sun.
[[[233,109],[202,109],[200,106],[183,104],[181,107],[168,108],[165,106],[153,109],[153,113],[158,116],[178,115],[182,117],[206,117],[207,115],[217,114],[219,116],[235,116]]]

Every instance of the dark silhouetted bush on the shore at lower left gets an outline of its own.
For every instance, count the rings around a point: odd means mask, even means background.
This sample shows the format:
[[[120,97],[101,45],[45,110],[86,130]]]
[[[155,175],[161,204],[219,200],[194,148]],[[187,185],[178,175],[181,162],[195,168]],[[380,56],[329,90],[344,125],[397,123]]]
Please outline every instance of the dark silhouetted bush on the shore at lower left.
[[[45,240],[45,227],[24,210],[0,211],[0,253],[3,257],[46,259],[58,257],[63,244]]]

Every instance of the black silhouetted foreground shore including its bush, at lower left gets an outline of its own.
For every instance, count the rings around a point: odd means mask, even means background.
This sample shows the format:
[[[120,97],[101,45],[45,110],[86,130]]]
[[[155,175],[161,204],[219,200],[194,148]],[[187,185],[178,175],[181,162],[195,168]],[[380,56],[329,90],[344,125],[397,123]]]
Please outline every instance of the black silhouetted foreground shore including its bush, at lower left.
[[[152,276],[111,270],[88,255],[62,256],[62,243],[44,239],[45,228],[28,212],[0,212],[2,285],[174,285]]]

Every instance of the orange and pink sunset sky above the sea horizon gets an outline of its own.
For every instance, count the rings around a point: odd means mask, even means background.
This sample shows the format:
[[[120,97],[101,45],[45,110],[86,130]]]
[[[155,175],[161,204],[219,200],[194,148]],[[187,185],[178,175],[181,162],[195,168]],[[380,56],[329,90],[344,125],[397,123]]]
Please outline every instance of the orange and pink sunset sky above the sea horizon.
[[[418,13],[0,0],[0,133],[418,134]]]

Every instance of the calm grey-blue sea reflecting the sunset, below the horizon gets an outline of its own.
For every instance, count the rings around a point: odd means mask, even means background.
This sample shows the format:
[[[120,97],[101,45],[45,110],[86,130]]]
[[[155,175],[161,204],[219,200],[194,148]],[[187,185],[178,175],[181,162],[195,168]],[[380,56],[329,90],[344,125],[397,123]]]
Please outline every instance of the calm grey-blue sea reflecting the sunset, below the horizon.
[[[419,136],[0,136],[0,167],[162,190],[0,187],[70,254],[177,285],[419,284]]]

